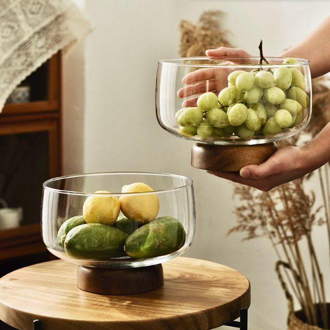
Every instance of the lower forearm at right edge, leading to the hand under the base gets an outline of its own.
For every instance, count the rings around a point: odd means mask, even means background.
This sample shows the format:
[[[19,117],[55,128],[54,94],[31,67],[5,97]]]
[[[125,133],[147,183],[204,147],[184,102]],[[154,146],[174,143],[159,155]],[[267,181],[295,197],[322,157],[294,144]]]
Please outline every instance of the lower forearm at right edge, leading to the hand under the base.
[[[301,148],[300,165],[308,172],[330,161],[330,123],[309,143]]]

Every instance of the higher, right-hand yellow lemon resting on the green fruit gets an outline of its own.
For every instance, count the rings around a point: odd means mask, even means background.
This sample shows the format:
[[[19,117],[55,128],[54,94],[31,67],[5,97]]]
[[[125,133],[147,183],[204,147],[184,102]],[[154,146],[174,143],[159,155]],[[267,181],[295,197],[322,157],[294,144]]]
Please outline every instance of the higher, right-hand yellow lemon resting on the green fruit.
[[[121,188],[122,193],[144,193],[153,189],[141,182],[132,183]],[[140,223],[156,219],[159,211],[159,198],[156,194],[119,197],[121,212],[131,220]]]

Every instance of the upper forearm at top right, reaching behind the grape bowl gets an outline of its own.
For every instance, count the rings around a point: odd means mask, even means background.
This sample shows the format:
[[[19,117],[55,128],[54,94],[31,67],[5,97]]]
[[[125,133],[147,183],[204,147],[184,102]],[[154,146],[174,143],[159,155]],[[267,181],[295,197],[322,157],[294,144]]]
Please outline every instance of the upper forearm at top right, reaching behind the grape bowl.
[[[312,78],[330,71],[330,17],[325,19],[304,41],[284,51],[281,57],[306,58],[311,63]]]

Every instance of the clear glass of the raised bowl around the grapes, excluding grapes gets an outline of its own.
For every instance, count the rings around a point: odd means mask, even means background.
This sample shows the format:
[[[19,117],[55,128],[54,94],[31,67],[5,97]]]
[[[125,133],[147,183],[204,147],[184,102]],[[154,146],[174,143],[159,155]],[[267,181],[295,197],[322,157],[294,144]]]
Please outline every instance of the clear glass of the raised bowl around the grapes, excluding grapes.
[[[309,61],[296,58],[296,63],[283,63],[285,58],[281,57],[266,57],[266,60],[268,63],[263,62],[262,64],[260,64],[259,57],[257,56],[217,58],[190,57],[160,60],[158,63],[156,82],[156,113],[159,124],[165,130],[180,138],[218,145],[271,143],[298,134],[307,126],[312,114],[312,85]],[[293,127],[282,127],[279,132],[273,135],[264,135],[261,129],[260,131],[255,131],[253,136],[249,138],[239,137],[236,132],[233,134],[229,133],[229,135],[224,134],[222,136],[220,134],[210,133],[211,136],[202,137],[196,132],[196,129],[195,131],[194,129],[190,131],[188,129],[186,132],[180,130],[182,127],[180,127],[175,117],[177,111],[186,107],[197,107],[198,97],[204,93],[212,92],[218,96],[220,91],[229,87],[227,77],[233,71],[244,70],[246,72],[256,73],[256,71],[268,70],[274,73],[274,70],[283,67],[290,70],[298,70],[300,74],[302,74],[306,84],[301,92],[305,93],[309,99],[308,106],[303,107],[302,118],[299,119],[300,121],[297,121]],[[277,87],[275,83],[273,86]],[[284,93],[286,93],[286,99],[291,98],[291,96],[288,96],[288,91],[295,86],[296,85],[292,84],[288,89],[283,90]],[[264,91],[265,89],[263,93]],[[245,93],[246,91],[243,91],[243,99],[245,98]],[[249,108],[251,103],[245,102],[245,99],[244,101],[243,99],[236,101],[238,103],[243,103]],[[263,105],[266,104],[265,95],[263,94],[262,99],[257,102]],[[227,111],[227,106],[228,105],[222,107],[221,105],[221,109]],[[280,103],[276,104],[276,107],[277,110],[279,110]],[[204,112],[204,119],[206,118],[207,115]],[[268,118],[267,115],[267,119]],[[223,128],[224,126],[215,127]]]

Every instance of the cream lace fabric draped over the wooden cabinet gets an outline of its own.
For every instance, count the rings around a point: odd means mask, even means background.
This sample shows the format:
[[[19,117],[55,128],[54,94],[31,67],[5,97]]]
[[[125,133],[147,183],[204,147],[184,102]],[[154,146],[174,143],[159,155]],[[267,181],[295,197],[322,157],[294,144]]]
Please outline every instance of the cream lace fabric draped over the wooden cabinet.
[[[71,0],[0,0],[0,111],[21,81],[91,31]]]

